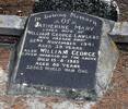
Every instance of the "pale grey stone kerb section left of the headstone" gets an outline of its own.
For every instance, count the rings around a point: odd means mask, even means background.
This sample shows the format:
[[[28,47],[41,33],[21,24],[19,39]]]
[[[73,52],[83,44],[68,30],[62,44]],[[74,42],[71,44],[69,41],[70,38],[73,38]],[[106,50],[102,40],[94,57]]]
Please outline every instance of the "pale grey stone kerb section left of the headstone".
[[[26,17],[16,15],[0,15],[0,35],[22,35],[25,21]]]

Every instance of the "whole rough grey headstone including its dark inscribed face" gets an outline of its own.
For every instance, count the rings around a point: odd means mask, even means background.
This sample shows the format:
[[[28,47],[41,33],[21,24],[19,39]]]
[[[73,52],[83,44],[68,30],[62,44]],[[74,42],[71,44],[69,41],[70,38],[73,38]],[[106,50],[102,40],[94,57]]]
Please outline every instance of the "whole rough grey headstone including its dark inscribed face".
[[[108,28],[102,19],[80,12],[31,15],[9,94],[97,96],[106,89],[118,56]]]

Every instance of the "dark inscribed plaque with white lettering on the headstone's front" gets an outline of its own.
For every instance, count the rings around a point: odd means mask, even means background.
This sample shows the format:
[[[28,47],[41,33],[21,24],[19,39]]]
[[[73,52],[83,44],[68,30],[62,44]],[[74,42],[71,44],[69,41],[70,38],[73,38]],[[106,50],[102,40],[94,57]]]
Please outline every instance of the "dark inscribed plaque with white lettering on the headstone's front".
[[[79,12],[33,14],[14,69],[15,84],[93,89],[102,21]]]

